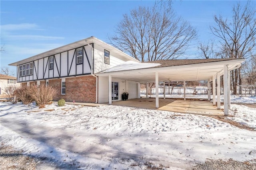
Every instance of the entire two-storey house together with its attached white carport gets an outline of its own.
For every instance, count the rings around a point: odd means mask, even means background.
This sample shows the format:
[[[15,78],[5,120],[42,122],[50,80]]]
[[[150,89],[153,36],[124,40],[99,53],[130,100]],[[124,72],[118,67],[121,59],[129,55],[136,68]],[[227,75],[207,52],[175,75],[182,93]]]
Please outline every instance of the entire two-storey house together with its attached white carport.
[[[159,107],[158,83],[165,81],[208,81],[213,98],[217,93],[220,109],[220,76],[224,77],[224,114],[230,109],[230,71],[245,59],[182,59],[140,63],[130,55],[90,37],[17,61],[17,82],[22,86],[46,84],[58,89],[54,100],[109,104],[122,99],[140,98],[140,83],[156,83],[156,108]],[[217,82],[216,82],[217,79]],[[216,86],[217,85],[217,86]],[[165,89],[165,88],[164,88]],[[164,95],[165,98],[165,95]],[[184,100],[186,96],[184,93]],[[213,100],[213,104],[216,101]]]

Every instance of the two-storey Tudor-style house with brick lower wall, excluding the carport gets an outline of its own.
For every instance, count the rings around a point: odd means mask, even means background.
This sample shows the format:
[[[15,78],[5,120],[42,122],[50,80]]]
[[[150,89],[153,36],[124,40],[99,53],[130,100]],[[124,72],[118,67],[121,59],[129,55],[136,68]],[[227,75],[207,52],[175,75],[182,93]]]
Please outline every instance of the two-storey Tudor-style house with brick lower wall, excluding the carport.
[[[92,36],[10,65],[17,67],[17,82],[22,86],[35,83],[58,89],[54,100],[104,103],[109,99],[108,78],[96,73],[126,61],[139,62]],[[129,99],[137,98],[138,90],[138,83],[112,79],[113,101],[120,100],[124,92],[130,94]]]

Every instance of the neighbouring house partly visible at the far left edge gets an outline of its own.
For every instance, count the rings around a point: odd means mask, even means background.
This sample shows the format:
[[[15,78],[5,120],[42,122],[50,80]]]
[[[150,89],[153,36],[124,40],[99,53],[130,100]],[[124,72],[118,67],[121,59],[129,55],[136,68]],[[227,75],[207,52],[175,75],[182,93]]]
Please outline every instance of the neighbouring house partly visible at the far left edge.
[[[20,83],[17,83],[16,77],[0,74],[0,95],[6,93],[5,87],[8,87],[8,85],[20,87]]]

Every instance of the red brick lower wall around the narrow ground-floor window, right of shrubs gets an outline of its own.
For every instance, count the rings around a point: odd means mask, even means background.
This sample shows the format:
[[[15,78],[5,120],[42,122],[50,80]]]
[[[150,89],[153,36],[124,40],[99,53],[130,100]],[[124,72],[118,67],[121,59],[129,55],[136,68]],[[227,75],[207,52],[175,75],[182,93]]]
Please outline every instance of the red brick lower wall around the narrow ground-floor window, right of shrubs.
[[[94,76],[80,76],[66,78],[66,94],[61,94],[61,79],[49,80],[49,85],[58,90],[58,95],[53,100],[58,101],[64,99],[65,101],[75,102],[96,102],[96,78]]]

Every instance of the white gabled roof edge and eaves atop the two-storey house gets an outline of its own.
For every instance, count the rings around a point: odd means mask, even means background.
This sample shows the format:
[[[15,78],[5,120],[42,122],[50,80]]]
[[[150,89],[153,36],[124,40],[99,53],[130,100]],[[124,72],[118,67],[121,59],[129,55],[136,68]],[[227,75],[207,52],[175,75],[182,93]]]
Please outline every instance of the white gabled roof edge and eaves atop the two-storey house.
[[[109,45],[108,43],[105,43],[102,40],[99,40],[98,38],[95,38],[94,36],[91,36],[89,38],[86,38],[86,39],[83,39],[83,40],[80,40],[80,41],[77,41],[77,42],[73,42],[73,43],[70,43],[70,44],[67,44],[67,45],[63,45],[61,47],[51,49],[49,51],[34,55],[34,56],[26,58],[26,59],[22,59],[20,61],[17,61],[15,63],[11,63],[9,65],[12,65],[12,66],[21,65],[21,64],[24,64],[24,63],[28,63],[28,62],[31,62],[31,61],[34,61],[34,60],[37,60],[37,59],[41,59],[41,58],[44,58],[44,57],[49,57],[49,56],[52,56],[54,54],[61,53],[61,52],[64,52],[64,51],[68,51],[68,50],[71,50],[71,49],[74,49],[74,48],[77,48],[77,47],[81,47],[81,46],[84,46],[84,45],[88,45],[88,44],[91,44],[91,43],[96,43],[96,44],[100,45],[101,47],[103,47],[107,50],[111,50],[111,54],[112,55],[114,54],[115,57],[122,56],[122,57],[126,58],[127,60],[132,60],[132,61],[139,62],[138,60],[134,59],[133,57],[124,53],[123,51],[117,49],[116,47],[113,47],[112,45]]]

